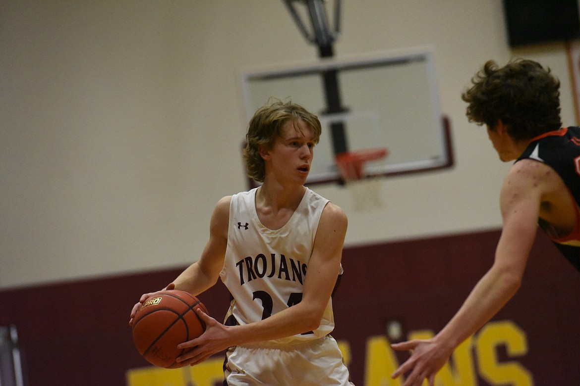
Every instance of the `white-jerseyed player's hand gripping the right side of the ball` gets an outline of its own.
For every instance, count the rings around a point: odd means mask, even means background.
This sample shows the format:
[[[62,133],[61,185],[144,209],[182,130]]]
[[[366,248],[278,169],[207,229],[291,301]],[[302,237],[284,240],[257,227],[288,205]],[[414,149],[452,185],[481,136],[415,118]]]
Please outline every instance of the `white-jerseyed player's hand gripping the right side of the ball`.
[[[195,339],[180,343],[177,348],[180,350],[193,347],[192,350],[178,356],[176,361],[182,362],[183,366],[197,365],[208,359],[213,354],[226,350],[230,347],[230,336],[227,333],[227,326],[216,321],[199,308],[195,309],[201,320],[205,323],[205,332]]]

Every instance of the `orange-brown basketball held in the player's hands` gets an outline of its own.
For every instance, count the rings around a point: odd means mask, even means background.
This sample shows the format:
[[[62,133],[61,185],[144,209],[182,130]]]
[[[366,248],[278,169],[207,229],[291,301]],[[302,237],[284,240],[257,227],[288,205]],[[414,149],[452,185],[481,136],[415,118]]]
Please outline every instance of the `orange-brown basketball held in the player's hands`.
[[[177,345],[205,331],[204,322],[195,313],[196,308],[208,313],[197,297],[177,289],[149,297],[133,320],[133,342],[139,354],[155,366],[181,367],[175,359],[187,350],[179,350]]]

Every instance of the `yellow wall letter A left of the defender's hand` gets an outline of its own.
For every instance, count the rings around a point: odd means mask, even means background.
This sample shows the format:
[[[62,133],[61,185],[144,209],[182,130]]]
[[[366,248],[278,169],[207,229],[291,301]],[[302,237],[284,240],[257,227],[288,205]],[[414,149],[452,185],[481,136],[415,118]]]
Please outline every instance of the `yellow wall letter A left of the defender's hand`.
[[[401,386],[400,378],[391,379],[391,374],[397,367],[397,357],[389,340],[384,336],[369,337],[365,359],[365,385]]]

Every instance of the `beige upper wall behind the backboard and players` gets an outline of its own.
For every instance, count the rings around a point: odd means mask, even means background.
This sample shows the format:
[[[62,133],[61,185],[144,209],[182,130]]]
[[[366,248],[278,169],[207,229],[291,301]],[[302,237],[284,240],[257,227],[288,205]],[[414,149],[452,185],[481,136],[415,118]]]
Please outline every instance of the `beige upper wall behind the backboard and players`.
[[[342,15],[336,57],[433,46],[456,149],[452,170],[380,180],[379,207],[317,186],[349,215],[347,244],[499,227],[509,164],[459,94],[485,60],[529,57],[576,124],[564,45],[510,50],[500,0]],[[317,57],[281,0],[1,2],[0,26],[0,288],[193,261],[213,205],[247,188],[240,72]]]

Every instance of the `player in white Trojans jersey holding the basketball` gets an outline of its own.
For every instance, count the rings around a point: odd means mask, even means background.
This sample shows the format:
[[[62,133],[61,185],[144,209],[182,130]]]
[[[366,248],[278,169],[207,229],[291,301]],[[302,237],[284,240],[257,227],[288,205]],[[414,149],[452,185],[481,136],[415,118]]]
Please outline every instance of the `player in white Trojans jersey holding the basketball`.
[[[229,289],[226,322],[200,313],[206,331],[177,358],[195,365],[227,349],[224,385],[352,384],[329,335],[347,218],[304,186],[320,133],[317,116],[292,102],[258,109],[244,160],[262,186],[218,202],[200,260],[167,287],[197,296],[221,278]]]

